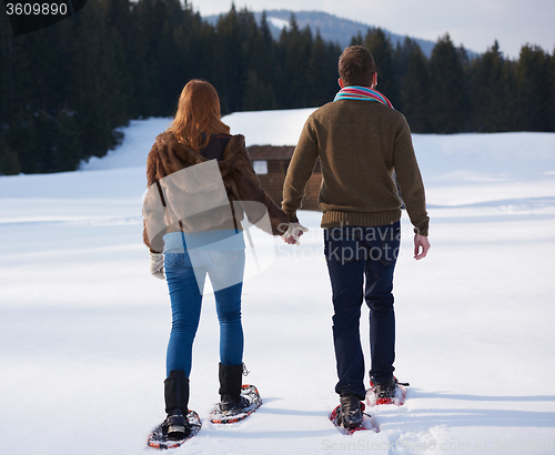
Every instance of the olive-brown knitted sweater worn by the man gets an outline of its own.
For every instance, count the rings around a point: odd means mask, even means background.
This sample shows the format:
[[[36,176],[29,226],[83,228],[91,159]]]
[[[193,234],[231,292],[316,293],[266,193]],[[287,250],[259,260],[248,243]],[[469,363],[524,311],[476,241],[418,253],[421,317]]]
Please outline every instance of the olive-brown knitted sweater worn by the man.
[[[322,228],[398,221],[402,202],[392,178],[395,172],[415,232],[427,235],[424,185],[403,114],[365,100],[340,100],[314,111],[304,124],[283,188],[282,209],[291,221],[297,220],[317,158]]]

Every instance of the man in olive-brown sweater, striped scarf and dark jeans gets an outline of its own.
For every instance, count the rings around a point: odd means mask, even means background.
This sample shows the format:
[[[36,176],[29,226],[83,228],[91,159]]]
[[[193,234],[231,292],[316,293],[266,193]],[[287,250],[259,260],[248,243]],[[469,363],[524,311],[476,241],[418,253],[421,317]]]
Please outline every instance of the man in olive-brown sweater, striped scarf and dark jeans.
[[[362,46],[346,48],[339,73],[341,90],[335,100],[314,111],[304,124],[285,178],[282,208],[291,222],[299,222],[296,211],[320,159],[319,204],[334,306],[337,421],[355,428],[362,424],[361,401],[366,394],[359,332],[362,302],[370,307],[371,381],[379,398],[394,398],[398,384],[393,376],[392,290],[402,202],[414,225],[416,260],[430,249],[428,216],[411,130],[374,90],[377,73],[372,53]]]

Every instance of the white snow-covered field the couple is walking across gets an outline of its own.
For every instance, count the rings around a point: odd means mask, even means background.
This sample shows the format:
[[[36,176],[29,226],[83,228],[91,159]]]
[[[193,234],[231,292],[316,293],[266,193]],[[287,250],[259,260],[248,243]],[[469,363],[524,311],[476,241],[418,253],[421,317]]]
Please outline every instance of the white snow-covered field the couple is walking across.
[[[311,110],[236,113],[248,144],[294,144]],[[154,453],[170,305],[142,245],[144,163],[168,119],[133,121],[81,171],[0,176],[0,452]],[[214,426],[218,322],[203,305],[191,408],[203,428],[175,453],[555,453],[555,134],[414,135],[432,250],[396,269],[402,407],[381,432],[341,435],[320,215],[299,247],[256,233],[273,257],[245,282],[245,363],[263,406]],[[365,312],[367,314],[367,311]],[[363,318],[362,332],[367,321]],[[369,352],[364,340],[365,352]],[[370,357],[367,357],[370,358]]]

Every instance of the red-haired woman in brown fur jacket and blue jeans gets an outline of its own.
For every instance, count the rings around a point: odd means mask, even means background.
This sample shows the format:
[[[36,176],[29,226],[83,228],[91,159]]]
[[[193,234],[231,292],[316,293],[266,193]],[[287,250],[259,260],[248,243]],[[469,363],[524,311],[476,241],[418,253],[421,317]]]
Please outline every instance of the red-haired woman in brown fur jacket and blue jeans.
[[[249,221],[255,218],[255,224],[266,216],[271,234],[286,233],[287,243],[295,243],[295,237],[290,236],[287,216],[262,189],[244,138],[231,135],[221,121],[218,93],[206,81],[192,80],[184,87],[171,127],[149,154],[147,176],[143,237],[151,273],[167,280],[172,306],[165,431],[170,439],[180,439],[190,433],[189,376],[206,275],[220,323],[220,411],[234,414],[250,405],[241,395],[242,208],[254,203],[262,211],[246,213]]]

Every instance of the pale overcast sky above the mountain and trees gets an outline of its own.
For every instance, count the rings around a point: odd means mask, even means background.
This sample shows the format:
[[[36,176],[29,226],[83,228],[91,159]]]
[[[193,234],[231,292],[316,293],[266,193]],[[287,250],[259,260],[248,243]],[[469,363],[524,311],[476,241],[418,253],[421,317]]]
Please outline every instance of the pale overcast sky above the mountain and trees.
[[[201,16],[228,12],[231,0],[189,0]],[[555,48],[555,0],[235,0],[238,9],[324,11],[398,34],[436,41],[448,32],[456,46],[485,52],[495,39],[505,57],[525,43]]]

